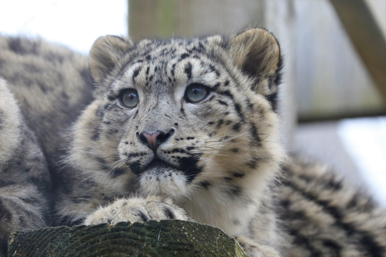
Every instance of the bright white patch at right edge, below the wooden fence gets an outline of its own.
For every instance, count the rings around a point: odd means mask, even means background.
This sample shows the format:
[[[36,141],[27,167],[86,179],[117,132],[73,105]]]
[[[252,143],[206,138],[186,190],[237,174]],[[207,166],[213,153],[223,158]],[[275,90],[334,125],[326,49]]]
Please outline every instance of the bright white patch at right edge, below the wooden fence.
[[[386,208],[386,117],[344,119],[338,135],[370,193]]]

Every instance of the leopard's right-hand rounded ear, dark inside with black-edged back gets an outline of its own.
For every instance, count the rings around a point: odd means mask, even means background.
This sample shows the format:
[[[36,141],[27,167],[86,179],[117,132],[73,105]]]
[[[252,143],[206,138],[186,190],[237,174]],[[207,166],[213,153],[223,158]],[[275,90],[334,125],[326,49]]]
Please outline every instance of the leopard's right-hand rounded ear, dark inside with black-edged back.
[[[265,29],[244,30],[229,39],[237,67],[255,79],[253,89],[270,96],[280,83],[281,54],[275,37]]]

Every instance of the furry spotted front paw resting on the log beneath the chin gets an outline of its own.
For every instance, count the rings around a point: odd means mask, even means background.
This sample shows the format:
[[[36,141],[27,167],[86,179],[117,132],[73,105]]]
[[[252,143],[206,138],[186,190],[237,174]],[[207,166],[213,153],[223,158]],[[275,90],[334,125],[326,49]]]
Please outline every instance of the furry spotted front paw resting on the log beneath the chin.
[[[85,225],[101,223],[116,224],[122,221],[146,222],[149,219],[190,220],[186,212],[175,205],[169,198],[149,196],[116,200],[114,203],[100,207],[84,220]]]

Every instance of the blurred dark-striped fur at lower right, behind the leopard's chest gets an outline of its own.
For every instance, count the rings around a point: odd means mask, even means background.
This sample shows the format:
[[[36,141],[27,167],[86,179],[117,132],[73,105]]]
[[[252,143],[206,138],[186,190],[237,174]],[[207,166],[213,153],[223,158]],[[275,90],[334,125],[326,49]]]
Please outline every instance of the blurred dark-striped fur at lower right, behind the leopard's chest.
[[[277,199],[291,242],[288,256],[386,255],[384,209],[326,166],[287,165]]]

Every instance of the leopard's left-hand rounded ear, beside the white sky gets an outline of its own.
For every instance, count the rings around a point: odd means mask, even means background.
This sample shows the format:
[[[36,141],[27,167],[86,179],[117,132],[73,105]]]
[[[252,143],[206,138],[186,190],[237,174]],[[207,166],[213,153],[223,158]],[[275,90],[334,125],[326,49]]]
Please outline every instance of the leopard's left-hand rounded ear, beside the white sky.
[[[130,40],[117,36],[98,38],[92,45],[88,57],[93,80],[101,82],[115,67],[122,55],[133,46]]]

